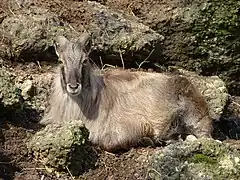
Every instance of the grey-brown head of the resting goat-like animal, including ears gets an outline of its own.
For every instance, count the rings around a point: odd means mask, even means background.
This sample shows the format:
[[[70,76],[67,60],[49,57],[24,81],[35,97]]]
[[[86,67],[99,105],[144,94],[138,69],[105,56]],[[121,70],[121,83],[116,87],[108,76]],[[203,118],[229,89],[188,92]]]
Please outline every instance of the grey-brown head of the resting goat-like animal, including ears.
[[[76,42],[71,42],[63,36],[56,38],[55,51],[60,66],[61,85],[71,96],[80,94],[82,88],[88,85],[90,63],[90,35],[83,33]]]

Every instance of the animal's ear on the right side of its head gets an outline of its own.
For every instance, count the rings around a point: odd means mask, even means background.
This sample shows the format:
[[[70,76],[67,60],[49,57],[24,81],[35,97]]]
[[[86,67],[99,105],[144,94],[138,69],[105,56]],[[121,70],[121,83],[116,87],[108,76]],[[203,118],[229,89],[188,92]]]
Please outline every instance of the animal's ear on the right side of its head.
[[[84,32],[76,42],[77,47],[85,50],[86,53],[89,53],[91,50],[91,35],[87,32]]]

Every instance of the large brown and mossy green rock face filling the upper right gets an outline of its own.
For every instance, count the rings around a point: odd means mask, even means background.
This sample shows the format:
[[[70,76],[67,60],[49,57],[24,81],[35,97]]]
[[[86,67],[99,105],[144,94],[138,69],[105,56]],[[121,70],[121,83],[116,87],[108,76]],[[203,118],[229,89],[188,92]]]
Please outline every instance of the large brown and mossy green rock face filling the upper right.
[[[240,94],[240,10],[235,0],[106,0],[162,34],[161,64],[219,75],[230,94]]]

